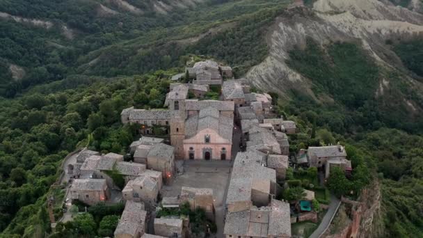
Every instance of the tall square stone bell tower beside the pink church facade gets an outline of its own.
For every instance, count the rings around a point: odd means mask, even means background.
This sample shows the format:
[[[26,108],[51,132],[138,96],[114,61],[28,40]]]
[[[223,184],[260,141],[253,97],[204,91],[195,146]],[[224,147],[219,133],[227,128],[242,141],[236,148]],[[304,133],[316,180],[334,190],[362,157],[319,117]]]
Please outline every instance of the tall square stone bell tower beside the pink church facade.
[[[168,94],[168,106],[170,110],[170,143],[175,148],[175,159],[184,159],[185,139],[185,99],[188,87],[177,86]]]

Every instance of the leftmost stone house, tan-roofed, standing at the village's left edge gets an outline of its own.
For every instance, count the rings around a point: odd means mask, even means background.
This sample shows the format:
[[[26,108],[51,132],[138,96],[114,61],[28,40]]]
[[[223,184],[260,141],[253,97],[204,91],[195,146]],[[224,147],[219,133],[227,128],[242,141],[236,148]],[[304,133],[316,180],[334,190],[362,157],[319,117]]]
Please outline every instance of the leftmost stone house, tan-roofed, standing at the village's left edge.
[[[72,182],[70,196],[88,205],[95,205],[111,198],[111,192],[106,180],[77,179]]]

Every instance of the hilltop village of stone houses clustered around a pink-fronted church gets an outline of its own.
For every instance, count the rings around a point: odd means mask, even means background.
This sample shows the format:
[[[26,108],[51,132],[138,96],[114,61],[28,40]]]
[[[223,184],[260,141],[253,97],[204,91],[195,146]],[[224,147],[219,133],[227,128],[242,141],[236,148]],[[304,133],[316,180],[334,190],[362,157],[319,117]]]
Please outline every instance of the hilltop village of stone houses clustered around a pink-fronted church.
[[[120,114],[139,134],[128,154],[85,148],[67,159],[61,221],[81,203],[125,203],[115,237],[292,237],[292,224],[321,219],[330,198],[315,193],[332,168],[351,173],[342,145],[292,156],[296,123],[229,66],[200,61],[172,81],[167,109],[131,106]],[[298,192],[299,185],[310,190]]]

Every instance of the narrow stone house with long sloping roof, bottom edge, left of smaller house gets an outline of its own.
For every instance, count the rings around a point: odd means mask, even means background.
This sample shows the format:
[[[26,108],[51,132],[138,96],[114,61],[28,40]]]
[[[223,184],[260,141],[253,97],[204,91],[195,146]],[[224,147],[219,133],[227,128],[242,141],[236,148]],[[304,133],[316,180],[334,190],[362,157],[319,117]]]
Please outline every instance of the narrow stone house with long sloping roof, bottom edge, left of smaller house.
[[[116,238],[139,238],[145,234],[147,228],[147,212],[143,203],[128,200],[115,229]]]

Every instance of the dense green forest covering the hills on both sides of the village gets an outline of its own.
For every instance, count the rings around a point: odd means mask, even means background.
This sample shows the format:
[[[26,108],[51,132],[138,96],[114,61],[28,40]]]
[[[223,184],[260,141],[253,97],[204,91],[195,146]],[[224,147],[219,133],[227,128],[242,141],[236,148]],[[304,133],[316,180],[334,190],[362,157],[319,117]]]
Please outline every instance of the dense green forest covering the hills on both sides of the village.
[[[149,11],[149,1],[127,1],[145,10],[137,15],[106,2],[0,3],[0,12],[52,24],[46,29],[0,19],[0,237],[49,233],[47,198],[60,197],[51,184],[66,154],[85,146],[124,154],[135,131],[120,124],[120,111],[163,106],[169,78],[193,55],[228,63],[238,77],[260,63],[268,54],[266,30],[289,3],[216,0],[160,14]],[[100,3],[118,14],[102,13]],[[418,80],[422,44],[421,38],[387,42],[404,72]],[[10,65],[23,68],[24,75],[13,77]],[[359,195],[370,180],[380,180],[386,236],[421,237],[423,117],[397,99],[422,106],[422,92],[400,80],[408,77],[404,72],[374,63],[356,42],[323,48],[308,40],[305,49],[289,52],[288,65],[313,82],[321,99],[292,90],[291,100],[279,101],[279,113],[301,130],[290,138],[290,150],[343,143],[354,173],[344,190],[333,190]],[[382,78],[390,91],[375,97]],[[60,207],[54,212],[60,216]],[[103,220],[115,223],[115,213],[91,211],[67,232],[81,232],[79,225],[88,223],[80,235],[109,234],[101,229]]]

